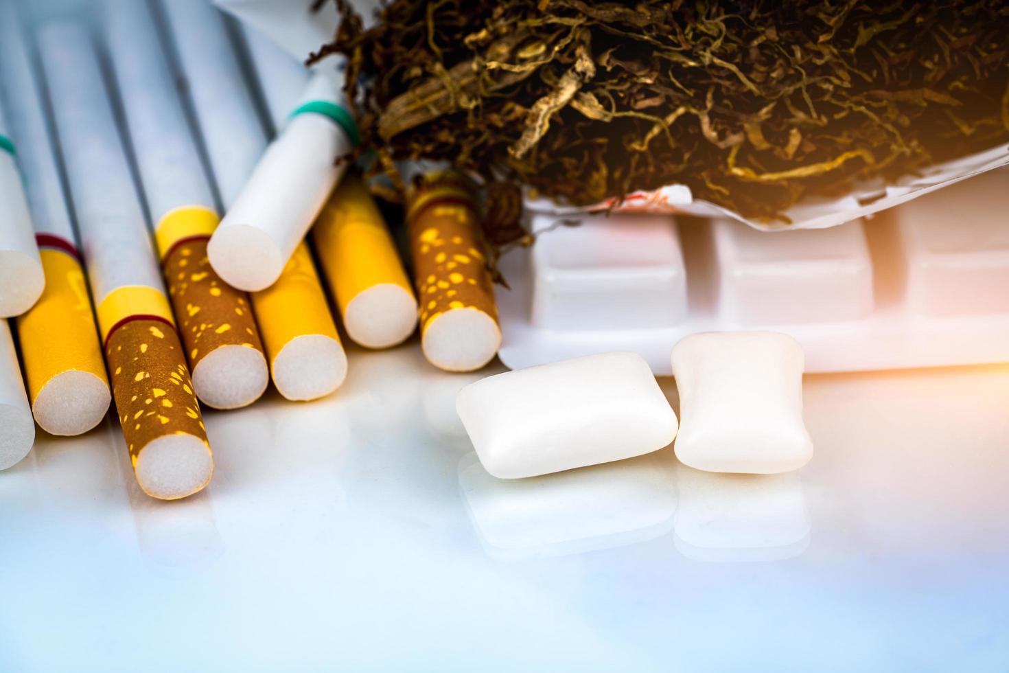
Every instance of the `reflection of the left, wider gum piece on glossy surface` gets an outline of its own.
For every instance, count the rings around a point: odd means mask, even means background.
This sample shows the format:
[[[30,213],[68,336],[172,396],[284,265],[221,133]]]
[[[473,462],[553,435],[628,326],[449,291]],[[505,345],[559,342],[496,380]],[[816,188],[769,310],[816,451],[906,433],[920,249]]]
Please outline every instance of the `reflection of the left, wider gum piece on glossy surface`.
[[[673,475],[654,454],[528,479],[497,479],[475,453],[459,486],[491,558],[525,560],[661,537],[676,512]]]

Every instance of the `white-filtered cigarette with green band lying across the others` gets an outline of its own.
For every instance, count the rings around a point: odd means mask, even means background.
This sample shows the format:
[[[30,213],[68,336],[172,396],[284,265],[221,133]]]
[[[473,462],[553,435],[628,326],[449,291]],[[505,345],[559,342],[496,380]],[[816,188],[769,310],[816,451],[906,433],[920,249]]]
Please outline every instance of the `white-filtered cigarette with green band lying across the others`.
[[[342,73],[318,70],[210,239],[210,262],[236,288],[276,282],[346,170],[357,141]],[[264,87],[265,88],[265,87]]]

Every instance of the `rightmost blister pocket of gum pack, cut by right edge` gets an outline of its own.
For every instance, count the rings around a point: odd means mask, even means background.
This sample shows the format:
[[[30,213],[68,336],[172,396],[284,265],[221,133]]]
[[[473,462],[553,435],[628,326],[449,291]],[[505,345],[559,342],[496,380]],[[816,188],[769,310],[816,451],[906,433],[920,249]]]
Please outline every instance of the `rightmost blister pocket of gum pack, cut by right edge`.
[[[925,316],[1009,311],[1009,169],[996,169],[885,213],[904,305]]]

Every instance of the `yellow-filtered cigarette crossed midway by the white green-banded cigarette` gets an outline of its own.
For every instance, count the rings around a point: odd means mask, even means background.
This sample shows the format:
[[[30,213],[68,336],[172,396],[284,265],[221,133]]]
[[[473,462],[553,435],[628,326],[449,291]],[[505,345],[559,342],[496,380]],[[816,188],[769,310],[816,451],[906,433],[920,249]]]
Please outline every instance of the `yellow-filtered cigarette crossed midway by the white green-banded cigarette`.
[[[225,48],[228,36],[222,16],[198,0],[173,0],[162,6],[180,63],[190,82],[197,124],[227,207],[238,198],[255,169],[266,147],[266,133],[256,115],[251,93],[243,84],[238,62],[230,47]],[[276,106],[290,110],[298,94],[286,86],[290,79],[298,86],[299,78],[308,79],[308,72],[290,55],[277,52],[277,47],[266,46],[274,49],[270,58],[277,65],[268,72],[284,76],[283,82],[271,82],[271,98],[277,101],[277,96],[291,96],[285,104]],[[222,132],[222,129],[227,130]],[[347,358],[315,264],[304,244],[296,250],[276,283],[266,291],[252,294],[251,300],[273,384],[281,395],[289,400],[314,400],[332,392],[343,382]]]

